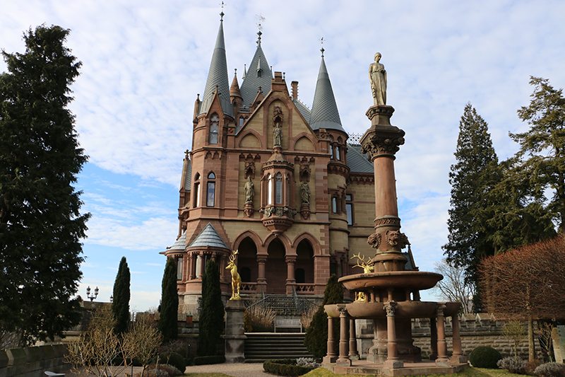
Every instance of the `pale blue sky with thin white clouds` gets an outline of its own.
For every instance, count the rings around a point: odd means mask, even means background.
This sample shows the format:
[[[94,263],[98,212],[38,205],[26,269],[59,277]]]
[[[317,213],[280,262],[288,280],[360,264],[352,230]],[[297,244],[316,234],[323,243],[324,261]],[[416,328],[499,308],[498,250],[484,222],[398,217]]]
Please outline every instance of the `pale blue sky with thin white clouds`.
[[[59,25],[71,30],[66,46],[83,63],[70,105],[89,156],[76,184],[82,210],[92,214],[83,298],[87,286],[97,286],[96,301],[109,301],[125,256],[131,309],[159,305],[159,253],[177,237],[182,159],[220,11],[219,0],[0,0],[0,48],[24,52],[25,30]],[[565,86],[561,0],[225,0],[223,11],[230,79],[237,69],[241,83],[261,16],[266,59],[287,83],[299,81],[299,100],[310,108],[323,38],[341,121],[352,134],[370,126],[368,69],[381,52],[387,105],[396,109],[391,123],[406,132],[395,165],[402,231],[420,271],[443,257],[448,173],[465,104],[489,124],[502,160],[518,149],[509,132],[528,129],[516,110],[530,102],[530,76]]]

